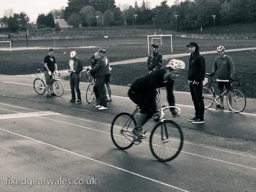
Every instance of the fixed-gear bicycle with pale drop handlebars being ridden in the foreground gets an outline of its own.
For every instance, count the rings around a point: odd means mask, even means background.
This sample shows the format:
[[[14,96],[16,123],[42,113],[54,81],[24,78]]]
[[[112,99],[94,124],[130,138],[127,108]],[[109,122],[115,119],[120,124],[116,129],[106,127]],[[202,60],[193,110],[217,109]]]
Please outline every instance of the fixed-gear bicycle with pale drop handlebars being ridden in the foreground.
[[[150,150],[153,156],[162,162],[175,159],[183,146],[183,133],[180,126],[176,122],[164,118],[164,110],[169,108],[175,108],[180,112],[176,106],[163,106],[160,110],[160,120],[144,131],[145,134],[152,129],[149,141]],[[138,145],[142,142],[142,139],[132,132],[137,124],[138,113],[139,106],[136,106],[132,114],[120,113],[112,121],[111,139],[120,150],[127,150],[134,144]]]

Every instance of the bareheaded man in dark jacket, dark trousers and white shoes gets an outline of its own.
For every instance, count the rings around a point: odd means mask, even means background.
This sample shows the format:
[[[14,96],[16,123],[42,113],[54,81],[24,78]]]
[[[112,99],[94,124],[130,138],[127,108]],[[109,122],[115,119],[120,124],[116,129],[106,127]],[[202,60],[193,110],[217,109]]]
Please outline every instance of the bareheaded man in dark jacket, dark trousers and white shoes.
[[[90,73],[96,79],[96,87],[99,94],[99,105],[95,106],[98,110],[107,110],[104,86],[105,86],[105,62],[100,56],[99,52],[94,53],[95,57],[95,66],[90,70]]]

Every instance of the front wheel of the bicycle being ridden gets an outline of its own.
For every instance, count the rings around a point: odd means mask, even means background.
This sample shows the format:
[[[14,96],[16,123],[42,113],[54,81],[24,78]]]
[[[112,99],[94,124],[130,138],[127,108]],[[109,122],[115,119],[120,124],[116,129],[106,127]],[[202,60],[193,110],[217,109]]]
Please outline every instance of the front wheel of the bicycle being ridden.
[[[180,126],[172,120],[155,125],[150,136],[150,151],[163,162],[176,158],[183,146],[183,133]]]

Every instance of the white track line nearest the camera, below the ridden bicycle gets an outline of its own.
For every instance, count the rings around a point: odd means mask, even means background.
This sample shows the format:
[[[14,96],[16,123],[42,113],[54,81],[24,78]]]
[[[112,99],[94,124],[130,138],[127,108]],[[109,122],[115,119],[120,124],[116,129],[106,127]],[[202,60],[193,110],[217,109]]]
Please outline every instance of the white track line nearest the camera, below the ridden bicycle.
[[[23,138],[26,138],[26,139],[30,139],[30,140],[32,140],[32,141],[35,141],[35,142],[38,142],[38,143],[41,143],[41,144],[45,144],[45,145],[48,145],[48,146],[57,148],[58,150],[61,150],[61,151],[64,151],[64,152],[67,152],[67,153],[70,153],[70,154],[73,154],[73,155],[76,155],[76,156],[85,158],[85,159],[89,159],[89,160],[91,160],[91,161],[94,161],[94,162],[97,162],[97,163],[100,163],[100,164],[103,164],[103,165],[106,165],[106,166],[109,166],[109,167],[112,167],[112,168],[121,170],[122,172],[126,172],[126,173],[129,173],[129,174],[132,174],[132,175],[141,177],[141,178],[146,179],[146,180],[150,180],[150,181],[159,183],[159,184],[161,184],[161,185],[165,185],[165,186],[168,186],[168,187],[171,187],[171,188],[175,188],[175,189],[177,189],[177,190],[184,191],[184,192],[189,192],[188,190],[185,190],[185,189],[176,187],[176,186],[174,186],[174,185],[170,185],[170,184],[168,184],[168,183],[164,183],[164,182],[161,182],[161,181],[158,181],[158,180],[149,178],[149,177],[145,177],[145,176],[143,176],[143,175],[140,175],[140,174],[137,174],[137,173],[134,173],[134,172],[130,172],[130,170],[123,169],[123,168],[117,167],[117,166],[115,166],[115,165],[111,165],[111,164],[109,164],[109,163],[105,163],[105,162],[102,162],[102,161],[99,161],[99,160],[96,160],[96,159],[93,159],[93,158],[90,158],[90,157],[87,157],[87,156],[83,156],[83,155],[74,153],[74,152],[69,151],[69,150],[65,150],[64,148],[57,147],[57,146],[55,146],[55,145],[52,145],[52,144],[49,144],[49,143],[46,143],[46,142],[43,142],[43,141],[39,141],[39,140],[30,138],[30,137],[27,137],[27,136],[24,136],[24,135],[20,135],[20,134],[11,132],[11,131],[7,131],[7,130],[1,129],[1,128],[0,128],[0,130],[2,130],[2,131],[4,131],[4,132],[7,132],[7,133],[11,133],[11,134],[17,135],[17,136],[20,136],[20,137],[23,137]]]

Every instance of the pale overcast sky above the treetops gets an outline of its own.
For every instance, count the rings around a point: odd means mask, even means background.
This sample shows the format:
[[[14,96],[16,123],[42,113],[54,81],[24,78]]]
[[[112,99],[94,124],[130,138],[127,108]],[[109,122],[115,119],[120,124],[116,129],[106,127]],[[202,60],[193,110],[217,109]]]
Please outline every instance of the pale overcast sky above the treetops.
[[[141,6],[143,0],[137,0],[138,6]],[[162,0],[144,0],[150,3],[151,8],[160,5]],[[172,6],[174,0],[168,0],[167,5]],[[134,7],[135,0],[115,0],[117,7],[119,5],[132,5]],[[68,0],[9,0],[5,1],[0,6],[0,17],[4,16],[4,11],[12,9],[14,13],[25,12],[29,18],[30,23],[36,22],[38,14],[48,14],[53,9],[60,9],[61,7],[67,7]]]

